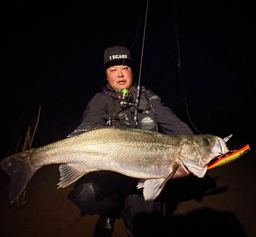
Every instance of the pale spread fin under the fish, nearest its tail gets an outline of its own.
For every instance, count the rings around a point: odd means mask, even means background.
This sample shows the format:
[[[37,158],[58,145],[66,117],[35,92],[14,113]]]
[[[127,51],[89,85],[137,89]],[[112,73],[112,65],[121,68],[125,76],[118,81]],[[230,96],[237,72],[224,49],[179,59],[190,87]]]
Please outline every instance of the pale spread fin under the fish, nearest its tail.
[[[60,182],[57,184],[59,185],[58,188],[66,187],[79,178],[81,178],[83,175],[87,174],[88,172],[83,171],[79,169],[74,164],[62,164],[59,166],[59,172],[60,172]]]

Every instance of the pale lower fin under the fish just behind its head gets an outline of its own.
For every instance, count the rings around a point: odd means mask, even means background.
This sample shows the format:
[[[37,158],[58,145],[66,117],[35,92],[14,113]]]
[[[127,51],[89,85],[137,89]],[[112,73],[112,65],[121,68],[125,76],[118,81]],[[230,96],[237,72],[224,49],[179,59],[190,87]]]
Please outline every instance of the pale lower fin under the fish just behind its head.
[[[143,189],[143,196],[145,201],[154,201],[156,197],[160,194],[163,189],[163,186],[168,179],[172,178],[179,168],[178,164],[173,165],[173,171],[166,179],[140,179],[137,188]]]

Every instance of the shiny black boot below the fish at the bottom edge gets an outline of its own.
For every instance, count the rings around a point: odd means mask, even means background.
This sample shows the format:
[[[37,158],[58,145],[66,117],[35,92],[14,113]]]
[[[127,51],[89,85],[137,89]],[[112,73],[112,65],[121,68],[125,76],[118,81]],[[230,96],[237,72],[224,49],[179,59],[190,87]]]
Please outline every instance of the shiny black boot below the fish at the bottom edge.
[[[99,217],[95,225],[93,237],[111,237],[114,231],[115,219]]]

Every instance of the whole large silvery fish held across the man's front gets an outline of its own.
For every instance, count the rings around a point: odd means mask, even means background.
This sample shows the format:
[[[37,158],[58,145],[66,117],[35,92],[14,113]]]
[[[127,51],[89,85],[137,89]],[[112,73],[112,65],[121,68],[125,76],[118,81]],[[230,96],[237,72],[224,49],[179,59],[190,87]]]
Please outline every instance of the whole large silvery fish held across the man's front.
[[[84,174],[112,170],[140,178],[145,200],[154,200],[170,178],[191,173],[203,177],[207,164],[228,152],[226,143],[213,135],[169,136],[135,129],[81,124],[67,139],[7,157],[2,168],[11,176],[13,202],[36,170],[58,163],[59,187]]]

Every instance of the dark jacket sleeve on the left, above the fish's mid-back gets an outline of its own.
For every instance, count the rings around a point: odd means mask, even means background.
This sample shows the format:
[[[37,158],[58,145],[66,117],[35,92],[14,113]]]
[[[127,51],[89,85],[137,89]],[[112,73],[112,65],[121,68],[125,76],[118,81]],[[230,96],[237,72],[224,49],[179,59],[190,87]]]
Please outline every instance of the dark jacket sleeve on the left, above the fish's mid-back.
[[[82,123],[106,125],[107,120],[103,115],[108,113],[108,98],[105,94],[97,93],[89,101],[82,116]]]

